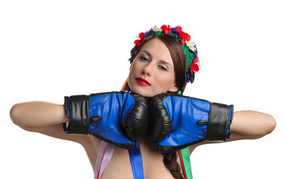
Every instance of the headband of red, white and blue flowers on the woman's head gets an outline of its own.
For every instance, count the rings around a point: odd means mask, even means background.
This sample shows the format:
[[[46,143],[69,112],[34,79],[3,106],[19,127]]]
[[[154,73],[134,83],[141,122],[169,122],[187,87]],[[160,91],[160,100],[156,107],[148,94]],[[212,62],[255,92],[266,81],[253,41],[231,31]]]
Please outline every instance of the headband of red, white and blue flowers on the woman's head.
[[[188,35],[187,33],[181,30],[180,26],[176,26],[174,28],[170,25],[168,26],[162,25],[161,28],[154,26],[153,28],[151,28],[149,31],[145,33],[144,32],[139,33],[139,35],[136,36],[136,40],[134,41],[135,46],[130,52],[131,58],[129,58],[128,61],[130,61],[130,63],[133,62],[134,60],[133,58],[135,54],[137,53],[138,47],[140,46],[140,44],[144,40],[153,36],[154,34],[156,36],[161,36],[163,34],[170,35],[174,37],[181,44],[182,50],[186,58],[185,82],[193,83],[195,73],[199,71],[201,65],[200,65],[200,62],[197,56],[197,49],[196,49],[195,42],[191,40],[190,35]]]

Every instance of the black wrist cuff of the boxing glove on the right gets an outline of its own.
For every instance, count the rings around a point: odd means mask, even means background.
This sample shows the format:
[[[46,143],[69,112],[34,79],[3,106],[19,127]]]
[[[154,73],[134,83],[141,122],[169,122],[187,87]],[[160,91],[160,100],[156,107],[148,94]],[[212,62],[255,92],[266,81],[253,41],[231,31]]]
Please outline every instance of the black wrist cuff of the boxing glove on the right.
[[[233,105],[211,103],[207,127],[207,141],[226,141],[230,135],[227,133],[232,122]]]

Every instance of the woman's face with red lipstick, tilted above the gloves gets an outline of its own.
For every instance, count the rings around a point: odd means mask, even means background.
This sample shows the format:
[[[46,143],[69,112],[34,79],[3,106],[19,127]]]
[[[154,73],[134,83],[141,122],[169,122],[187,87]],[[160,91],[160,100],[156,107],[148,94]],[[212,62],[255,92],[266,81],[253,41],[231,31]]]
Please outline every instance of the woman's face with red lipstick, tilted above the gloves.
[[[178,91],[170,51],[160,39],[150,39],[140,49],[130,66],[128,84],[132,92],[145,97]]]

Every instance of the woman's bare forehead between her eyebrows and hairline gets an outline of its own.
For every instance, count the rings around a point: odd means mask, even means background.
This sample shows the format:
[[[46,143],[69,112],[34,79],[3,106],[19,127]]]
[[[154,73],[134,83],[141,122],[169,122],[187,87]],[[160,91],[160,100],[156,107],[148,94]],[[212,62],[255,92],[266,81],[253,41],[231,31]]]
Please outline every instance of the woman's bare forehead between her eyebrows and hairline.
[[[158,38],[150,39],[141,48],[140,53],[145,53],[142,51],[147,51],[151,54],[152,59],[164,60],[173,64],[171,53],[164,42]]]

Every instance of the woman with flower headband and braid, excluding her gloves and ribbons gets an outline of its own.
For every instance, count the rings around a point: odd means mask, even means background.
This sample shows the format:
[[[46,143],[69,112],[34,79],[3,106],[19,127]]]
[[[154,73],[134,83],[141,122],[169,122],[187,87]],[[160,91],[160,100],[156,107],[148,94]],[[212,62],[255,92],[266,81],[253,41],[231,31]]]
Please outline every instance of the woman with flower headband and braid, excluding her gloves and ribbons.
[[[180,26],[155,26],[140,33],[134,41],[130,72],[123,89],[149,98],[162,93],[182,95],[200,67],[196,46],[190,38]],[[10,116],[13,123],[25,130],[81,144],[96,170],[101,140],[92,135],[67,135],[62,128],[62,123],[69,122],[64,105],[42,101],[18,103],[11,108]],[[234,111],[230,138],[226,142],[258,139],[272,132],[275,126],[271,115],[251,110]],[[190,154],[197,146],[209,143],[218,142],[204,141],[189,146]],[[186,178],[178,151],[160,153],[149,138],[140,140],[139,146],[145,178]],[[115,147],[100,178],[133,178],[128,151]]]

